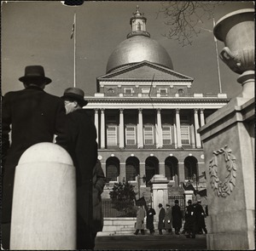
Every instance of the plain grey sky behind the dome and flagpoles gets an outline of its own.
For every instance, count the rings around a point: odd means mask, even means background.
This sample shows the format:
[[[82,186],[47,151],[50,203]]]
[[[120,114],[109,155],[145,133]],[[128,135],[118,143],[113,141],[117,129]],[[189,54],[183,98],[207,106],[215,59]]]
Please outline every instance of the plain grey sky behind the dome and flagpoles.
[[[192,93],[217,94],[218,67],[212,20],[201,23],[201,34],[192,45],[182,46],[163,36],[168,31],[163,15],[157,17],[158,1],[84,1],[78,7],[61,1],[2,1],[2,94],[20,90],[18,80],[25,67],[44,66],[52,79],[45,91],[61,96],[73,86],[74,50],[70,38],[76,12],[76,86],[85,94],[96,93],[96,77],[106,73],[108,58],[131,31],[130,18],[139,5],[147,18],[147,31],[172,58],[174,71],[193,77]],[[237,9],[253,8],[251,1],[225,2],[214,11],[217,22]],[[218,41],[218,54],[224,43]],[[219,59],[222,91],[229,98],[241,92],[238,74]]]

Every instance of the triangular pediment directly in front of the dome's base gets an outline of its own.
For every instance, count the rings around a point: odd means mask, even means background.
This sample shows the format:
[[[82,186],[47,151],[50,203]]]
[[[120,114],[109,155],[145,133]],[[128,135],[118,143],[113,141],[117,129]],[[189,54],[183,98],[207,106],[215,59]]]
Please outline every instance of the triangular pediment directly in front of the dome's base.
[[[188,81],[192,82],[192,77],[187,77],[176,71],[172,71],[165,66],[159,66],[148,61],[124,66],[116,71],[112,71],[98,80],[160,80],[160,81]]]

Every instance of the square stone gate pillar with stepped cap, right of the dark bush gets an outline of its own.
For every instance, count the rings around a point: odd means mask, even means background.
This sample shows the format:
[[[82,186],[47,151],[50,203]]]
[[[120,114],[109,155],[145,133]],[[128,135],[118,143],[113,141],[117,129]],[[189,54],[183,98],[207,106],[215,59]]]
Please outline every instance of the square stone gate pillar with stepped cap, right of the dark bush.
[[[152,207],[155,210],[156,222],[158,222],[159,219],[159,203],[163,204],[163,207],[165,207],[166,203],[168,203],[168,183],[169,180],[167,180],[167,178],[162,174],[155,174],[153,178],[150,180],[150,184],[153,191]]]

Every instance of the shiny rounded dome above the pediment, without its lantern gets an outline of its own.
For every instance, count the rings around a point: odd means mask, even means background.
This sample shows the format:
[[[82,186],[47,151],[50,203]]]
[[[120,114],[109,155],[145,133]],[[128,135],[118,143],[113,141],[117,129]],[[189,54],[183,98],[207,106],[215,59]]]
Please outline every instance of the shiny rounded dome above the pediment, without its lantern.
[[[172,60],[166,49],[150,37],[140,35],[119,43],[108,59],[107,73],[144,60],[173,70]]]

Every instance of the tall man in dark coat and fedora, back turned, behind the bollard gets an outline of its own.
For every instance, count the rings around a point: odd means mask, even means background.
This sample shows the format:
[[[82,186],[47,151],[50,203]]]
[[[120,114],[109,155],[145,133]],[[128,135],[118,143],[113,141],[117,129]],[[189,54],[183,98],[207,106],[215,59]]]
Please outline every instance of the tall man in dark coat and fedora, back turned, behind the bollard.
[[[56,143],[65,146],[65,107],[59,97],[44,92],[45,85],[51,83],[44,75],[44,67],[26,66],[25,75],[19,80],[24,89],[5,94],[2,104],[1,228],[4,249],[9,249],[15,167],[21,155],[32,145],[53,142],[54,135]]]

